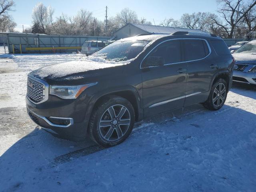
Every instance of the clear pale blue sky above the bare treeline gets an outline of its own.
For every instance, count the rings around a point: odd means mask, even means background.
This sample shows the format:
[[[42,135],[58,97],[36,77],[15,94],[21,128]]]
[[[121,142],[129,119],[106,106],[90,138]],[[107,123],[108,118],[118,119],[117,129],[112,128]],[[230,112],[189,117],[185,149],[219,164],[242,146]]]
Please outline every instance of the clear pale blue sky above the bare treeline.
[[[217,10],[215,0],[15,0],[15,12],[11,12],[15,22],[18,24],[16,29],[22,31],[31,25],[32,9],[36,3],[42,2],[46,6],[55,9],[54,18],[65,13],[70,16],[76,14],[81,8],[89,10],[93,16],[104,20],[105,9],[108,6],[108,16],[115,16],[122,8],[128,7],[138,14],[138,18],[144,17],[147,20],[159,24],[164,18],[179,19],[183,13],[193,12],[214,12]]]

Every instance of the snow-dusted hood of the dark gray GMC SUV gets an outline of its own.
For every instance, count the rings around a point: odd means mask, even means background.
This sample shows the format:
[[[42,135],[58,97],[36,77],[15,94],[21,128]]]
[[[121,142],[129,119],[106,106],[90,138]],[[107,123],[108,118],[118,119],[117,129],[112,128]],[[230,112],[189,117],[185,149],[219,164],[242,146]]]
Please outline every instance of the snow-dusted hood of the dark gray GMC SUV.
[[[48,65],[30,72],[29,75],[45,80],[48,83],[65,83],[72,80],[75,84],[81,81],[84,82],[85,78],[86,81],[90,81],[106,74],[115,74],[117,71],[120,74],[125,64],[127,63],[108,63],[96,62],[92,60],[79,60]]]

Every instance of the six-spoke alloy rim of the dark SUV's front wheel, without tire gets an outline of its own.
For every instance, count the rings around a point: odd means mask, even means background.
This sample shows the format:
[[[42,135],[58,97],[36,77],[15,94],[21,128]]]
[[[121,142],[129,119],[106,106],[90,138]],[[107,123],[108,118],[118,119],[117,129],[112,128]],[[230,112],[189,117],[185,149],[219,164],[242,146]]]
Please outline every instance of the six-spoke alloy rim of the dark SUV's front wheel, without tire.
[[[107,141],[119,140],[126,134],[130,122],[130,112],[125,106],[110,106],[100,118],[100,135]]]

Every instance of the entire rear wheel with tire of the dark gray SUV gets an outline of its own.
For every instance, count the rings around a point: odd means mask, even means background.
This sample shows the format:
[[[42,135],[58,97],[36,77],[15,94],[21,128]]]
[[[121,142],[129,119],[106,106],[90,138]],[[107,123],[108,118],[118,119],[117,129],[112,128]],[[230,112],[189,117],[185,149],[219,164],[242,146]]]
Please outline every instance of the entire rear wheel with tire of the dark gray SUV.
[[[224,105],[228,94],[228,86],[224,79],[217,80],[210,91],[204,107],[209,110],[219,110]]]

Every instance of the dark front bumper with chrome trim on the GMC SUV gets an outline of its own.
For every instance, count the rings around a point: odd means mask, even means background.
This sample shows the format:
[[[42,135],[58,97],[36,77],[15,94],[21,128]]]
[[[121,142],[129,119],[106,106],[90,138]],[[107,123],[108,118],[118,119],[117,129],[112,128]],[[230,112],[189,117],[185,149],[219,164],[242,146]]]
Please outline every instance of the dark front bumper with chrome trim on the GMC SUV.
[[[83,102],[78,105],[78,102],[49,96],[46,102],[34,104],[26,96],[28,115],[36,124],[56,137],[74,141],[86,138],[88,124],[85,119],[86,106]],[[56,120],[65,120],[67,123],[56,123]]]

